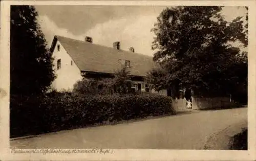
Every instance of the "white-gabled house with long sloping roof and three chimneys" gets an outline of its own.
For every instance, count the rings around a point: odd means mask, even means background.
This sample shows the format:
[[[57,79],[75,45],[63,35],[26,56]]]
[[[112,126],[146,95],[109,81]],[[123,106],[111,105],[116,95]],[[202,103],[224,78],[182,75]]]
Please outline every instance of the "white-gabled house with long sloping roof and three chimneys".
[[[115,71],[126,66],[131,74],[133,88],[149,91],[145,83],[146,73],[155,65],[152,57],[120,49],[120,42],[114,42],[113,48],[94,44],[91,37],[84,41],[62,36],[54,36],[51,52],[56,79],[52,88],[72,90],[73,85],[87,78],[111,78]],[[162,92],[164,93],[164,92]]]

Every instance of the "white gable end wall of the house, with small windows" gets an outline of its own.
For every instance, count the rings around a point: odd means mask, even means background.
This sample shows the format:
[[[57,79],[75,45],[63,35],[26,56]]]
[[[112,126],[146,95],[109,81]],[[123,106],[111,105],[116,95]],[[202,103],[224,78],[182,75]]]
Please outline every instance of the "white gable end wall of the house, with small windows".
[[[60,45],[60,51],[58,51],[57,46]],[[52,89],[57,91],[61,90],[72,90],[74,84],[82,79],[81,73],[75,62],[72,60],[67,51],[62,47],[59,41],[55,45],[53,51],[53,64],[56,79],[52,83]],[[57,60],[61,60],[61,67],[57,70]],[[71,65],[71,61],[73,64]]]

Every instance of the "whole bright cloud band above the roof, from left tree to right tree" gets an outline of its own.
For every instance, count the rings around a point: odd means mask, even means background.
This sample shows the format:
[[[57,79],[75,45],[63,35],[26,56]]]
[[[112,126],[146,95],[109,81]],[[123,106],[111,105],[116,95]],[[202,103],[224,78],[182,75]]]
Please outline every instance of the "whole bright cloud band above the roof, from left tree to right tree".
[[[93,43],[112,47],[113,42],[120,41],[121,49],[134,47],[137,53],[151,55],[153,35],[150,32],[156,22],[156,16],[137,16],[105,21],[97,24],[83,34],[74,35],[68,29],[59,28],[48,16],[38,16],[41,30],[50,45],[54,35],[84,40],[85,36],[93,38]]]

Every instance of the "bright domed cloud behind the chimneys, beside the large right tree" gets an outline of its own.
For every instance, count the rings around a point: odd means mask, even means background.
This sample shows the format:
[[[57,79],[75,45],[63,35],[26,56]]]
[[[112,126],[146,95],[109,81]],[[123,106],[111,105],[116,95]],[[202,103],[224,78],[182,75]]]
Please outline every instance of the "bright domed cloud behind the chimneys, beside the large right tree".
[[[93,37],[94,43],[112,47],[113,42],[120,41],[121,49],[134,47],[137,53],[152,55],[153,35],[150,30],[154,26],[156,16],[138,16],[109,20],[97,24],[84,35]]]

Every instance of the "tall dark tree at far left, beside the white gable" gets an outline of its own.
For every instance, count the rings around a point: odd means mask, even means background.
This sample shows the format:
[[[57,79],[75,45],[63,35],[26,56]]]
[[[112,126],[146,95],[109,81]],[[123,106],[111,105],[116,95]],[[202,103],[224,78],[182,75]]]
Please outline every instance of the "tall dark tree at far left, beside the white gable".
[[[55,78],[53,59],[37,16],[33,6],[11,6],[11,94],[44,93]]]

